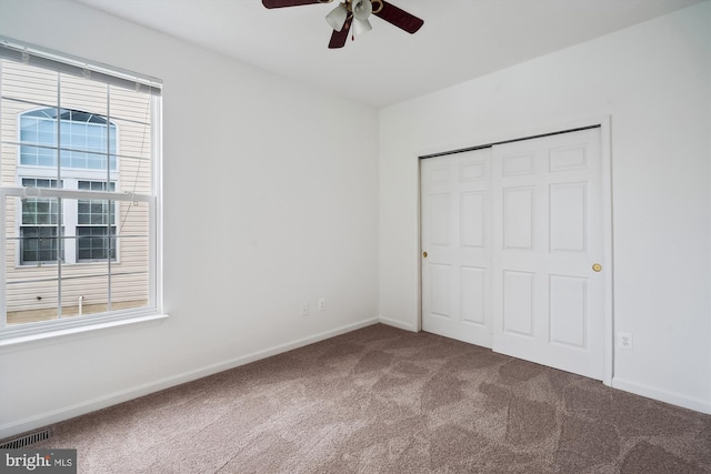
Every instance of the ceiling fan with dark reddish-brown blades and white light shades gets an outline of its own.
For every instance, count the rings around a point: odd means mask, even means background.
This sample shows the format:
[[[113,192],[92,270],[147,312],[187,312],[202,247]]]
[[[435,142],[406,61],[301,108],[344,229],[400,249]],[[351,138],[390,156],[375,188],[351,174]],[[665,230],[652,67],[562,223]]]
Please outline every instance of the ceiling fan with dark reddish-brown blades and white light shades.
[[[333,0],[262,0],[264,7],[283,8],[300,7],[313,3],[330,3]],[[329,48],[343,48],[348,40],[348,33],[353,28],[353,36],[362,34],[372,30],[368,18],[374,14],[387,22],[412,34],[418,31],[424,21],[413,14],[408,13],[384,0],[343,0],[329,14],[326,21],[333,28]]]

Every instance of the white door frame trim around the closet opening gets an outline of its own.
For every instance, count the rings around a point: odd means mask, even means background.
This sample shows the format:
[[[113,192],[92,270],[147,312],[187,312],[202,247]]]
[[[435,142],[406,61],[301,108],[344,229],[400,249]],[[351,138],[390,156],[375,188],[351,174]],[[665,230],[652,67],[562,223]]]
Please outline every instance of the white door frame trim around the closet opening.
[[[417,229],[415,229],[415,255],[413,255],[414,268],[417,269],[417,291],[414,307],[417,309],[415,331],[422,331],[422,177],[420,173],[420,161],[428,158],[437,158],[445,154],[459,153],[477,148],[490,147],[493,144],[527,140],[537,137],[571,132],[578,129],[600,128],[600,164],[601,164],[601,199],[602,199],[602,239],[603,239],[603,374],[602,383],[611,386],[613,367],[614,367],[614,262],[613,262],[613,239],[612,239],[612,153],[611,153],[611,134],[610,134],[610,115],[600,115],[580,120],[568,120],[557,124],[537,127],[528,130],[502,131],[492,137],[474,138],[469,140],[468,144],[451,144],[439,147],[434,150],[423,150],[418,153],[414,165],[417,167]],[[472,144],[473,143],[473,144]]]

